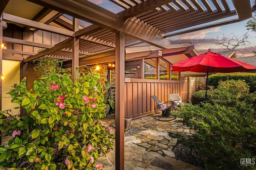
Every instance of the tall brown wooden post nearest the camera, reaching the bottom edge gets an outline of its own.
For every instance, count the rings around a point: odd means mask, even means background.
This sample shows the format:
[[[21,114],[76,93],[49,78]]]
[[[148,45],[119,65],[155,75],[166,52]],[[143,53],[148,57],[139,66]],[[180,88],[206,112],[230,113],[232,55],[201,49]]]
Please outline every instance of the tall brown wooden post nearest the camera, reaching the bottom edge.
[[[116,170],[124,170],[124,33],[116,32]]]

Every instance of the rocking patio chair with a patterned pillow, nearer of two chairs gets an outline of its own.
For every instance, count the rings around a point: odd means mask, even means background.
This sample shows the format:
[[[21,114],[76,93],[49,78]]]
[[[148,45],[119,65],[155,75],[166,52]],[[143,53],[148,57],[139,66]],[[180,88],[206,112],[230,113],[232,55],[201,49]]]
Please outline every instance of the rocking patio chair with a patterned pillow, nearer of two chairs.
[[[159,121],[171,121],[176,119],[175,116],[170,114],[170,111],[176,111],[176,106],[174,106],[174,104],[172,104],[172,102],[168,101],[168,102],[161,102],[159,100],[158,97],[156,96],[151,96],[152,99],[154,99],[154,101],[156,102],[156,105],[158,107],[159,110],[162,111],[161,116],[159,116],[159,118],[154,117],[154,119],[159,120]],[[162,117],[164,118],[170,118],[170,119],[161,119]]]

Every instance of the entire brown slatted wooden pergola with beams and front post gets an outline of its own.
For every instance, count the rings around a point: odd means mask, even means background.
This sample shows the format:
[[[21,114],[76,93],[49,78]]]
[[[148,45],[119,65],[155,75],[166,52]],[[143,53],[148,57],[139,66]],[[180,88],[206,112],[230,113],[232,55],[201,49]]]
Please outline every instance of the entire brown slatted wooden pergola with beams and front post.
[[[90,59],[106,62],[114,51],[116,63],[116,169],[124,169],[124,61],[127,47],[147,43],[161,49],[172,47],[168,37],[235,23],[252,17],[250,0],[1,0],[0,43],[45,50],[36,53],[0,48],[2,59],[26,64],[38,57],[64,59],[75,68]],[[230,19],[232,17],[232,19]],[[3,36],[6,23],[24,32],[44,30],[63,35],[56,45]],[[200,24],[204,24],[203,26]],[[197,26],[198,25],[198,26]],[[11,53],[12,55],[6,55]],[[113,55],[113,54],[112,54]],[[1,67],[2,68],[2,67]],[[2,74],[2,69],[0,69]],[[2,82],[0,82],[2,86]]]

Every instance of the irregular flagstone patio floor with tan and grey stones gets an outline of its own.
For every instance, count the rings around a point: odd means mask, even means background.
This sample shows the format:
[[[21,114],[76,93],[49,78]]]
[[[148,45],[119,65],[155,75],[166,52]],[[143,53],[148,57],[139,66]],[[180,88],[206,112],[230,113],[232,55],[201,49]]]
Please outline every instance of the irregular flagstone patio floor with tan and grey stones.
[[[185,137],[192,136],[194,131],[174,121],[158,121],[156,115],[132,120],[131,126],[143,128],[139,133],[125,137],[124,169],[125,170],[200,170],[201,168],[176,160],[173,147],[177,139],[169,137],[168,132],[178,132]],[[114,121],[107,115],[104,122]],[[144,130],[145,129],[145,130]],[[97,164],[106,170],[115,170],[115,150],[106,158],[99,158]]]

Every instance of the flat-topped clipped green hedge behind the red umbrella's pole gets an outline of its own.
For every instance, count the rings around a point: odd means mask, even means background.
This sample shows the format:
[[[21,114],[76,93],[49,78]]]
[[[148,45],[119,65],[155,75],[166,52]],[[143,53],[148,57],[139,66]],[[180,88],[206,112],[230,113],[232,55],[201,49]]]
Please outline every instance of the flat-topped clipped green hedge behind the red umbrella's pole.
[[[250,92],[256,91],[256,73],[233,72],[233,73],[216,73],[208,78],[209,86],[218,86],[218,82],[226,80],[244,80],[250,86]]]

